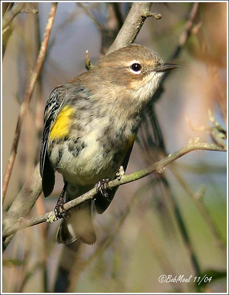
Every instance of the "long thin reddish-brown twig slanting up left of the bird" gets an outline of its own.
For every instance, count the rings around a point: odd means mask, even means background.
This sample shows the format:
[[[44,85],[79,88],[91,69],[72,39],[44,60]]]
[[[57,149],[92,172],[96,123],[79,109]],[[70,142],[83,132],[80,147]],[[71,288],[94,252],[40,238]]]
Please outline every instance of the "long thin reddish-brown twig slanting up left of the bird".
[[[31,75],[30,81],[27,84],[27,87],[26,87],[26,90],[24,93],[24,98],[23,98],[23,101],[21,104],[20,113],[19,113],[19,117],[18,117],[18,121],[17,121],[17,127],[16,127],[16,131],[14,134],[14,140],[13,140],[13,144],[11,147],[9,160],[7,163],[6,172],[5,172],[4,180],[3,180],[3,184],[2,184],[2,201],[4,200],[4,197],[6,194],[6,189],[7,189],[8,183],[9,183],[9,178],[10,178],[12,168],[14,165],[14,161],[16,158],[19,137],[20,137],[21,129],[22,129],[22,123],[23,123],[24,117],[27,113],[29,101],[31,99],[35,83],[37,81],[37,77],[40,73],[41,67],[42,67],[44,59],[45,59],[45,54],[46,54],[47,45],[48,45],[49,37],[51,34],[51,30],[52,30],[52,25],[53,25],[55,14],[56,14],[56,9],[57,9],[57,3],[53,2],[51,5],[50,14],[49,14],[47,25],[45,28],[45,33],[44,33],[44,37],[42,40],[40,52],[39,52],[39,55],[37,58],[37,63],[35,65],[35,68],[34,68],[33,73]]]

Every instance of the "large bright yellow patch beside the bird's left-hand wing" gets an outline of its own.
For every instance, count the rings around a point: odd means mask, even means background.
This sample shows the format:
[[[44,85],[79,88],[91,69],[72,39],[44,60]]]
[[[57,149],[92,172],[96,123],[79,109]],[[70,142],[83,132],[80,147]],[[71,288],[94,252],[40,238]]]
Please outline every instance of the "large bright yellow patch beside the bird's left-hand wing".
[[[53,139],[59,139],[68,135],[71,127],[71,114],[74,108],[72,106],[64,106],[57,116],[56,122],[52,126],[49,137]]]

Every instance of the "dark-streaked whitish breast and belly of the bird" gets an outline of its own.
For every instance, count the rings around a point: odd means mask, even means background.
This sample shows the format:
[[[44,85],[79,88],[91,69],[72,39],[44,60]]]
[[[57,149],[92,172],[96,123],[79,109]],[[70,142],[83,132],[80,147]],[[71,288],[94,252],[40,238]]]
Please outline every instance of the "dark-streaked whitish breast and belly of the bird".
[[[65,181],[77,185],[112,179],[123,165],[138,126],[139,119],[122,120],[108,114],[90,118],[87,124],[80,119],[68,136],[50,143],[50,162]]]

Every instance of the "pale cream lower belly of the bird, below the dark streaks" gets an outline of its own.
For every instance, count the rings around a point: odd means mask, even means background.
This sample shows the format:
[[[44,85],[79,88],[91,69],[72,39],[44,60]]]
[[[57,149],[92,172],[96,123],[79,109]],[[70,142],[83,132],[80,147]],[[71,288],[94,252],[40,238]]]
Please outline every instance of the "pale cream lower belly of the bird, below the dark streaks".
[[[58,163],[58,145],[52,149],[50,161],[65,181],[76,185],[95,184],[103,178],[114,178],[124,159],[122,153],[118,159],[117,156],[114,158],[114,153],[107,153],[100,142],[92,141],[91,138],[78,154],[69,151],[67,142],[63,144],[65,148],[62,148],[62,157]]]

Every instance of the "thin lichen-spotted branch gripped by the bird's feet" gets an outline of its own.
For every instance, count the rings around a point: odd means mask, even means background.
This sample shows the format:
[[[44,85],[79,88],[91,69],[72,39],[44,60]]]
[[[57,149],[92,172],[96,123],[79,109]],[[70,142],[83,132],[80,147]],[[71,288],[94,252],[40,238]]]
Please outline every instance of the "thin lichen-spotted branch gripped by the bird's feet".
[[[109,181],[107,188],[112,189],[116,186],[120,186],[125,183],[129,183],[132,181],[135,181],[137,179],[143,178],[153,172],[156,173],[163,173],[165,170],[165,167],[169,165],[170,163],[174,162],[178,158],[182,157],[183,155],[189,153],[193,150],[212,150],[212,151],[226,151],[225,148],[218,146],[215,143],[201,143],[195,140],[194,142],[189,142],[186,146],[179,149],[173,154],[168,155],[166,158],[160,160],[159,162],[156,162],[152,165],[150,165],[148,168],[142,169],[138,172],[132,173],[130,175],[124,175],[119,178],[116,178],[114,180]],[[67,203],[64,204],[64,209],[67,211],[87,200],[93,199],[95,195],[97,194],[96,188],[91,189],[87,193],[83,194],[80,197],[77,197],[76,199],[73,199]],[[60,210],[61,211],[61,210]],[[56,221],[55,213],[54,211],[47,212],[43,215],[32,217],[31,219],[24,219],[19,218],[17,222],[15,222],[10,227],[6,228],[2,235],[3,240],[5,240],[7,237],[13,235],[18,230],[21,230],[26,227],[30,227],[36,224],[40,224],[42,222],[48,221],[50,223]]]

